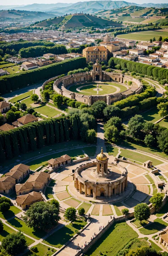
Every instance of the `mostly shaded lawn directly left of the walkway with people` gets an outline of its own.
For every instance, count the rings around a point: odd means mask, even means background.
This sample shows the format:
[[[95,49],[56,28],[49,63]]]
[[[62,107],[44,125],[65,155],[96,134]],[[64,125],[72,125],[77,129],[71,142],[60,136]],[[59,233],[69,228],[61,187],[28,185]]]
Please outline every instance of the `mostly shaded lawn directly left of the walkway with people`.
[[[86,224],[87,222],[85,221],[76,220],[74,223],[70,223],[59,229],[54,234],[47,237],[43,242],[45,244],[61,248],[72,236],[75,235],[75,230],[80,230]]]

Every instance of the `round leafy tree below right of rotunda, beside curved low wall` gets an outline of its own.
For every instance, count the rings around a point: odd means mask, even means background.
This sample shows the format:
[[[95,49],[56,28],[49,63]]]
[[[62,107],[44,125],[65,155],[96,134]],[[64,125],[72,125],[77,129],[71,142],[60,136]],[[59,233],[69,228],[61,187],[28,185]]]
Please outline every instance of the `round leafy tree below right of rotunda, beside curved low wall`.
[[[150,209],[146,203],[137,204],[134,208],[134,217],[136,220],[148,220],[150,217]]]

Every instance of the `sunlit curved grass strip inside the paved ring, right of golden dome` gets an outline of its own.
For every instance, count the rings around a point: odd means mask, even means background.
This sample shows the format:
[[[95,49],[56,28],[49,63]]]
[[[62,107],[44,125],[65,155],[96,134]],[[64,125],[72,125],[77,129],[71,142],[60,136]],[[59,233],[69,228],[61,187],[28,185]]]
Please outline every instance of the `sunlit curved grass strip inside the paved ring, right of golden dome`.
[[[158,164],[163,163],[162,161],[152,158],[150,156],[142,155],[140,153],[130,151],[127,149],[124,149],[124,150],[122,149],[120,155],[124,156],[125,158],[131,159],[134,161],[138,161],[140,163],[144,163],[147,160],[151,160],[153,162],[153,165],[158,165]]]

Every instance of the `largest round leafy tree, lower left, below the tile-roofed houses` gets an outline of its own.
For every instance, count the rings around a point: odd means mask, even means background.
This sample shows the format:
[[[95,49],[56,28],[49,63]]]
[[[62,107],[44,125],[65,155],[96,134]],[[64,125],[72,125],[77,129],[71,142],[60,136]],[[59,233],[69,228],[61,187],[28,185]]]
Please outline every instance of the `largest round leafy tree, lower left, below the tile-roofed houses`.
[[[37,202],[30,206],[23,218],[30,228],[51,229],[60,220],[59,209],[54,204]]]

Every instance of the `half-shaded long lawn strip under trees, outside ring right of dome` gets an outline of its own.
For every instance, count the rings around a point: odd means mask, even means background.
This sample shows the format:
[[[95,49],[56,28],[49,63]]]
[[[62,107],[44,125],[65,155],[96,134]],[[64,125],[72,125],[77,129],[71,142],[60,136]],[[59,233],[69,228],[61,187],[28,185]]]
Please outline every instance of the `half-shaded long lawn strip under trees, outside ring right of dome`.
[[[159,151],[158,148],[148,148],[147,146],[145,145],[141,145],[140,143],[138,142],[127,142],[127,141],[120,141],[118,143],[118,145],[122,145],[123,147],[128,147],[130,149],[136,149],[136,150],[140,150],[140,151],[144,151],[144,152],[147,152],[147,153],[150,153],[150,154],[153,154],[153,155],[156,155],[156,156],[159,156],[159,157],[162,157],[162,158],[165,158],[168,160],[168,155],[164,154],[162,151]]]

